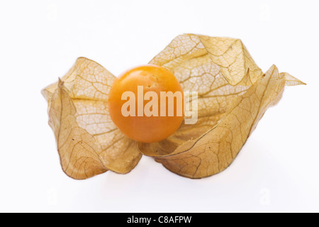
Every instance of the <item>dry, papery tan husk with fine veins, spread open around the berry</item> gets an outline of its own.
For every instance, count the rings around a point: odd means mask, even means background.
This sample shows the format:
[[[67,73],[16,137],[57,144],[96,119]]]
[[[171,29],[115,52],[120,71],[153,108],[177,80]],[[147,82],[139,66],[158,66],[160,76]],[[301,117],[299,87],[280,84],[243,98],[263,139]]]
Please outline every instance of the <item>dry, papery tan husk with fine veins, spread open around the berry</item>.
[[[275,65],[263,73],[242,41],[233,38],[179,35],[150,64],[173,72],[184,91],[198,92],[197,123],[183,123],[158,143],[127,138],[108,114],[116,77],[79,57],[65,77],[43,89],[62,170],[69,177],[86,179],[107,170],[125,174],[142,155],[183,177],[215,175],[233,162],[284,87],[304,84]]]

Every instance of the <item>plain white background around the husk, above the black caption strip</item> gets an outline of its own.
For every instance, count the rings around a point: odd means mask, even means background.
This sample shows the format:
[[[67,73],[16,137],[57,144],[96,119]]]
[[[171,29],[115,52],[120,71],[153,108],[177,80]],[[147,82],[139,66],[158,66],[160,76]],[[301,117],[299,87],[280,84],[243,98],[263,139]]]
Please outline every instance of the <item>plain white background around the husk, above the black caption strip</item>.
[[[0,1],[0,211],[319,211],[318,1]],[[61,170],[40,95],[79,56],[113,74],[177,35],[241,38],[287,87],[233,165],[192,180],[142,157],[128,175]]]

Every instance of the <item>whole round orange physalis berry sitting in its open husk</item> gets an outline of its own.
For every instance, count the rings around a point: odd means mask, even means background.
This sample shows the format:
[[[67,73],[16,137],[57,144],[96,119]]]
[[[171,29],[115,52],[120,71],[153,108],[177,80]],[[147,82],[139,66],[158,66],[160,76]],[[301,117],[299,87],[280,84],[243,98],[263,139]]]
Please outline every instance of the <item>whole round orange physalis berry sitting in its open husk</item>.
[[[164,94],[177,95],[169,101]],[[181,85],[172,72],[157,65],[142,65],[115,79],[108,110],[113,122],[129,138],[153,143],[169,137],[181,126],[183,99]]]

